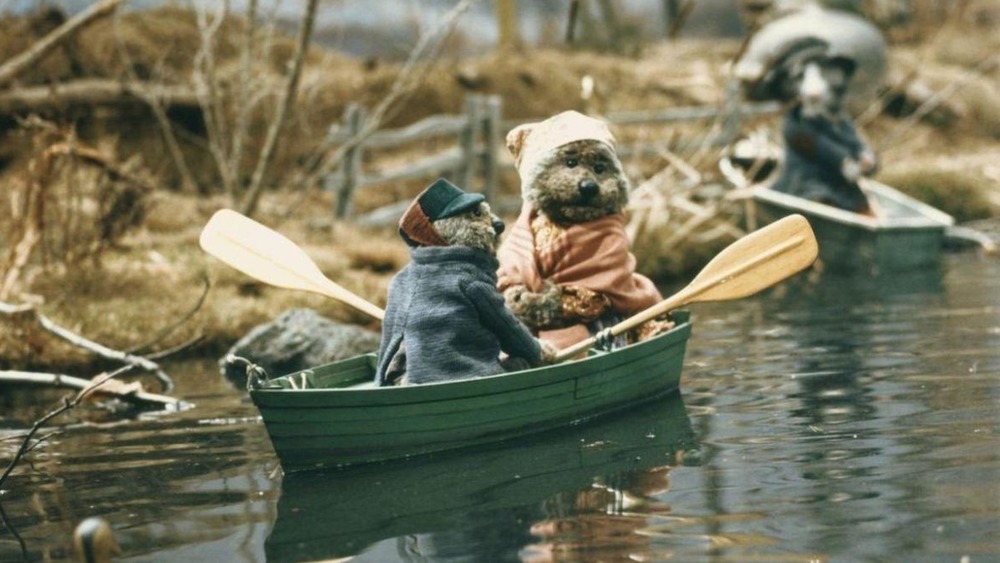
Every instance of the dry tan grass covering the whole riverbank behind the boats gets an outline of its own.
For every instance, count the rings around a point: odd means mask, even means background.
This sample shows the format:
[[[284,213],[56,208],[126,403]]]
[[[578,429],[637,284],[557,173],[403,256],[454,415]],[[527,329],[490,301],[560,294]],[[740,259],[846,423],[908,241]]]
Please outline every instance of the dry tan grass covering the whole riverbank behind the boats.
[[[105,25],[111,23],[109,20]],[[190,74],[192,49],[198,42],[190,14],[175,8],[130,12],[117,25],[126,34],[123,43],[134,72],[163,79]],[[22,38],[41,33],[25,26],[28,24],[23,20],[0,20],[0,60],[23,48],[21,43],[30,42],[18,43]],[[47,58],[29,75],[29,82],[71,78],[79,69],[99,76],[123,76],[124,62],[109,29],[102,31],[95,26],[81,34],[75,49],[60,50]],[[221,55],[234,52],[241,30],[238,21],[224,27]],[[985,38],[982,35],[956,34],[943,39],[936,47],[933,64],[921,67],[921,76],[940,87],[983,60],[984,51],[996,52],[996,34],[986,32]],[[279,39],[271,57],[257,63],[259,72],[271,73],[277,80],[290,54],[289,45],[287,40]],[[592,76],[596,83],[595,98],[585,108],[592,113],[713,104],[721,97],[723,65],[736,48],[735,43],[726,42],[678,42],[649,46],[636,59],[541,49],[495,53],[474,60],[443,60],[430,71],[426,83],[403,101],[387,126],[412,123],[433,114],[458,113],[466,93],[500,95],[505,118],[543,118],[570,107],[584,109],[579,93],[585,75]],[[77,57],[75,63],[67,58],[71,53]],[[220,64],[223,72],[236,76],[233,61]],[[339,120],[349,102],[371,107],[381,100],[398,72],[395,64],[365,65],[336,53],[311,52],[288,141],[274,168],[277,173],[290,175],[298,158],[318,142],[328,124]],[[971,81],[969,88],[957,94],[964,113],[950,129],[920,123],[901,136],[883,155],[885,171],[881,179],[940,205],[960,219],[997,216],[1000,210],[996,203],[983,205],[989,194],[995,196],[998,191],[996,181],[990,180],[996,173],[992,164],[996,159],[991,158],[990,151],[996,152],[996,139],[1000,138],[1000,100],[996,97],[1000,88],[996,85],[994,72]],[[264,286],[201,252],[198,233],[211,213],[225,205],[225,199],[217,193],[218,183],[197,120],[174,118],[175,125],[182,129],[185,155],[199,182],[211,193],[167,189],[157,192],[148,202],[143,223],[127,232],[114,248],[104,251],[99,262],[85,267],[37,269],[26,276],[18,298],[40,303],[40,310],[57,322],[117,348],[143,344],[183,316],[197,302],[206,275],[212,285],[204,305],[191,322],[158,347],[170,347],[201,334],[205,339],[194,352],[218,354],[252,326],[270,321],[291,307],[312,307],[331,318],[375,327],[370,319],[327,298]],[[899,125],[899,120],[883,116],[866,129],[877,143]],[[690,134],[704,127],[622,128],[616,134],[623,140],[662,141],[681,131]],[[161,185],[176,183],[160,132],[148,115],[91,116],[81,120],[80,136],[86,142],[103,140],[118,147],[122,151],[118,158],[123,161],[130,156],[126,150],[135,151]],[[7,197],[7,182],[23,169],[33,151],[27,150],[24,143],[12,141],[9,134],[0,143],[0,159],[11,163],[0,173],[0,189]],[[949,165],[967,152],[981,152],[982,157],[974,165],[958,169]],[[391,157],[405,160],[417,153],[414,150]],[[690,159],[707,182],[714,181],[717,153],[681,156]],[[371,170],[386,164],[379,161],[365,165],[366,170]],[[665,163],[649,160],[630,161],[627,165],[638,183],[661,170]],[[355,207],[364,211],[411,199],[430,180],[366,188],[358,194]],[[501,193],[518,193],[512,167],[503,171],[502,183]],[[983,194],[987,197],[980,197]],[[287,192],[268,193],[258,218],[299,243],[334,281],[384,305],[389,279],[408,260],[407,249],[394,229],[370,231],[348,224],[329,225],[333,202],[328,194],[310,194],[286,217],[284,212],[299,197]],[[0,209],[5,207],[6,201]],[[2,213],[0,221],[8,218]],[[636,240],[640,271],[659,281],[685,279],[727,242],[724,237],[712,242],[699,242],[694,237],[690,244],[663,248],[662,241],[675,229],[676,223],[663,222]],[[0,319],[0,323],[6,320]],[[0,330],[0,367],[68,368],[92,361],[32,327],[0,326],[4,328]],[[7,330],[8,326],[11,330]]]

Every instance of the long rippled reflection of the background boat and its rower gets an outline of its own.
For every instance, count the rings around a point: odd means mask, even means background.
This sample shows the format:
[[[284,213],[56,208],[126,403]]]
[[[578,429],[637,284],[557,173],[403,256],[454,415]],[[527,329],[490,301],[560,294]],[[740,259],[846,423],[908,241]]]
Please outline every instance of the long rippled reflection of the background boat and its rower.
[[[929,406],[908,374],[922,370],[920,335],[944,288],[939,268],[817,281],[781,300],[796,347],[789,421],[813,444],[788,455],[810,484],[796,493],[801,525],[823,538],[815,549],[844,553],[856,540],[826,530],[886,525],[899,499],[925,494],[920,479],[889,476],[918,451],[905,421]]]

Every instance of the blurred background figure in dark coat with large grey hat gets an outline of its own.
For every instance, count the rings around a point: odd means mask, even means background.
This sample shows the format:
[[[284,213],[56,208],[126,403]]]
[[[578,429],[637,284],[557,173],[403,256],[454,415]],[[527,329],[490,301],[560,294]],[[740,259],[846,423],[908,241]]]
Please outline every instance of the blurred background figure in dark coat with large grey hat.
[[[781,177],[772,187],[870,212],[858,180],[875,172],[877,160],[849,111],[867,107],[883,83],[885,38],[864,17],[817,3],[776,13],[734,67],[749,100],[791,106],[782,123]]]

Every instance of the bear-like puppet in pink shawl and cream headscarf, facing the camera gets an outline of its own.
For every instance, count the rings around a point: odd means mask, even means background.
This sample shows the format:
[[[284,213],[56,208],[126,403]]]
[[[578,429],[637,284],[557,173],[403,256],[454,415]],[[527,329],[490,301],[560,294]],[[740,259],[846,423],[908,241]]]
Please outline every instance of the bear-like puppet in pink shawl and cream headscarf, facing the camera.
[[[565,348],[663,299],[635,271],[629,182],[603,121],[563,112],[512,130],[507,148],[523,206],[497,253],[498,288],[515,315]],[[651,321],[632,340],[666,326]]]

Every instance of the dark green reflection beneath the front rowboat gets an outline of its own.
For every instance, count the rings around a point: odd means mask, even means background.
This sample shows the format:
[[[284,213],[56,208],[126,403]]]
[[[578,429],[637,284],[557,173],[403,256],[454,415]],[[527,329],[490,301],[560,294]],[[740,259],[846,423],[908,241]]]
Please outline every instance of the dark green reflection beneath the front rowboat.
[[[601,549],[617,545],[602,539],[610,534],[642,541],[632,532],[645,517],[624,513],[662,505],[654,495],[669,488],[685,454],[697,459],[696,447],[683,399],[673,393],[516,442],[291,474],[265,549],[280,561],[355,554],[356,561],[499,561],[593,552],[588,537]]]

